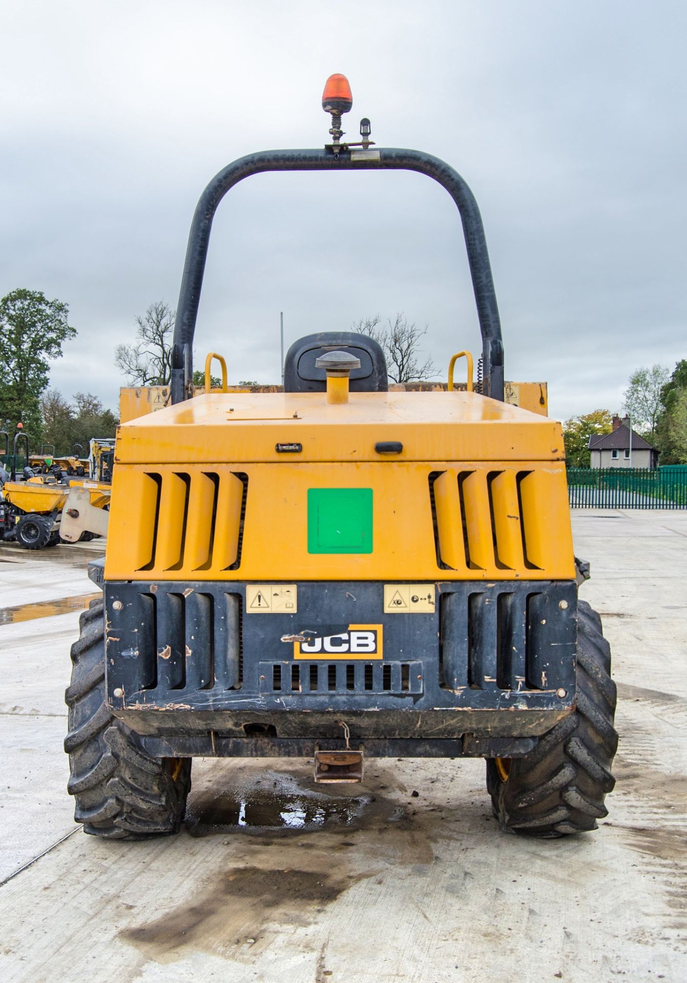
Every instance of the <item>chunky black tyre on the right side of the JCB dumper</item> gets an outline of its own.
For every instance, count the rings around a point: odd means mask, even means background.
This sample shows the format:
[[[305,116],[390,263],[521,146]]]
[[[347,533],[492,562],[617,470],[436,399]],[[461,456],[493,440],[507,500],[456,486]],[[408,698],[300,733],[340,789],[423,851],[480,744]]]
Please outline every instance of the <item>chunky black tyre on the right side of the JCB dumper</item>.
[[[601,618],[579,603],[577,706],[525,758],[487,761],[487,789],[502,830],[562,837],[597,829],[615,780],[615,683]]]

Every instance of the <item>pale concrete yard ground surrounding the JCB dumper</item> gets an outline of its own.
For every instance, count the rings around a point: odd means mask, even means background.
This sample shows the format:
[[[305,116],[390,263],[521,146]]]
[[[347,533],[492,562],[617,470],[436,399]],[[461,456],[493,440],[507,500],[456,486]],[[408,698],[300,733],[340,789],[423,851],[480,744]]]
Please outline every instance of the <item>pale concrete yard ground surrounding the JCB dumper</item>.
[[[0,546],[2,979],[687,979],[687,512],[573,526],[613,649],[618,781],[596,834],[544,841],[498,832],[483,762],[419,760],[334,792],[305,762],[197,760],[178,837],[86,837],[63,691],[101,547]]]

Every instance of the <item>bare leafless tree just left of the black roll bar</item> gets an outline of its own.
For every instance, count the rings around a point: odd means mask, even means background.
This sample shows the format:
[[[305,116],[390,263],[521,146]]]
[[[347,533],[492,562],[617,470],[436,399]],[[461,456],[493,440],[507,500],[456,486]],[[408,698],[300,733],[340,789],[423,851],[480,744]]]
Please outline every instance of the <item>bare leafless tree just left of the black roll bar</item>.
[[[169,305],[155,301],[143,317],[136,318],[134,344],[115,348],[115,364],[131,385],[169,385],[175,317]]]

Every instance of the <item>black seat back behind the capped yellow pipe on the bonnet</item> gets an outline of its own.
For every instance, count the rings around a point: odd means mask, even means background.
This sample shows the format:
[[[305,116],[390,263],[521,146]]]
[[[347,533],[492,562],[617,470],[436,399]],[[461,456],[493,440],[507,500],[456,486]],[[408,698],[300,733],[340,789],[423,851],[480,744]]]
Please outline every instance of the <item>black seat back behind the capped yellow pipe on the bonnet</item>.
[[[380,345],[357,331],[322,331],[299,338],[284,360],[284,392],[324,392],[326,373],[315,368],[316,360],[327,352],[349,352],[360,359],[360,369],[350,376],[352,392],[386,392],[386,359]]]

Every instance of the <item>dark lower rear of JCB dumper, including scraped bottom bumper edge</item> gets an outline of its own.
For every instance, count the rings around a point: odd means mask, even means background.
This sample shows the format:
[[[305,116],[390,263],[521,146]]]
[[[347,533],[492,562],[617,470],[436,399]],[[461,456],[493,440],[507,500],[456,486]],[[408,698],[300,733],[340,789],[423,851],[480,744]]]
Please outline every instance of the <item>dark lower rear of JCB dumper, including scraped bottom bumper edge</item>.
[[[296,753],[290,740],[309,754],[338,747],[345,720],[371,754],[418,740],[461,754],[480,737],[536,738],[574,706],[573,581],[428,584],[424,613],[385,613],[383,585],[364,582],[299,583],[296,612],[261,613],[247,586],[104,583],[116,716],[176,753]],[[351,631],[364,633],[353,653]]]

